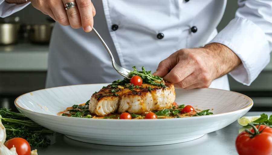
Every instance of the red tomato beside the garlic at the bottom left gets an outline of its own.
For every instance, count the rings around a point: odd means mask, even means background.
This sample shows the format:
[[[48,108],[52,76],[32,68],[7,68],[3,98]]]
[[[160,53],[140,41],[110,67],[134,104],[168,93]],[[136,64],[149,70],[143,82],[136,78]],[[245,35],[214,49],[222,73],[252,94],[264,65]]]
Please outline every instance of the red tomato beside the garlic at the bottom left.
[[[18,155],[30,155],[31,147],[24,138],[11,138],[5,142],[5,146],[8,147],[8,149],[11,149],[13,145]]]

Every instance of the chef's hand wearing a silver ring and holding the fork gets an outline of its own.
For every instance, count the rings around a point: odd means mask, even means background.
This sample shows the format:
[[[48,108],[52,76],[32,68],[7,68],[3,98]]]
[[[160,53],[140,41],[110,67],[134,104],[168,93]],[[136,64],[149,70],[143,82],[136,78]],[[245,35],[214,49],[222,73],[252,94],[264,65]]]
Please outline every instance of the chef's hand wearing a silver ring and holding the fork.
[[[68,2],[76,2],[76,6],[65,10]],[[31,0],[31,4],[63,26],[82,27],[85,32],[92,30],[96,10],[91,0]]]

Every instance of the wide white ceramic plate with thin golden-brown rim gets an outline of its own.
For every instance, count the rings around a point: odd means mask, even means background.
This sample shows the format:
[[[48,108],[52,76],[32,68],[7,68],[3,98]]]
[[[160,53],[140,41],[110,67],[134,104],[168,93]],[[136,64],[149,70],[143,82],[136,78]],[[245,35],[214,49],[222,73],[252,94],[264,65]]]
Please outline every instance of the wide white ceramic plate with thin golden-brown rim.
[[[107,84],[86,84],[37,90],[19,96],[17,109],[34,122],[67,137],[95,144],[147,146],[194,140],[219,130],[243,116],[253,101],[240,93],[219,89],[176,88],[176,103],[214,115],[175,119],[87,119],[58,116],[74,104],[85,103]]]

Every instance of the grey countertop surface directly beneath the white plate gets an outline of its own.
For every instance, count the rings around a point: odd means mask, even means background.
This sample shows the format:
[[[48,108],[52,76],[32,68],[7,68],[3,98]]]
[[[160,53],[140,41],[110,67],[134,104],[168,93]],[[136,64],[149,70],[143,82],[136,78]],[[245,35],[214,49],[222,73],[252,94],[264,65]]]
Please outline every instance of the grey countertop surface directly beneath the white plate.
[[[248,112],[247,116],[260,115],[272,112]],[[67,138],[63,134],[55,134],[52,137],[51,145],[46,148],[37,148],[39,155],[48,154],[92,154],[92,155],[165,155],[165,154],[185,154],[185,155],[238,155],[235,149],[235,139],[238,129],[241,126],[235,121],[225,128],[205,134],[203,137],[193,141],[159,145],[159,146],[109,146],[90,144],[75,141]],[[178,130],[178,129],[177,129]],[[133,134],[133,133],[131,133]],[[159,136],[159,135],[158,135]]]

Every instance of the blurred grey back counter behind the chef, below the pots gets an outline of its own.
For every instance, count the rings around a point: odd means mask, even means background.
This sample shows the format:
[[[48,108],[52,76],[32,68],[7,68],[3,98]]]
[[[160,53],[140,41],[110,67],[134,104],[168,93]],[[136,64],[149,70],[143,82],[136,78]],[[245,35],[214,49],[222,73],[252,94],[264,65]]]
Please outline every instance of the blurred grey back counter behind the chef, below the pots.
[[[23,42],[0,46],[0,71],[47,71],[47,59],[48,45]],[[272,71],[272,61],[264,71]]]

